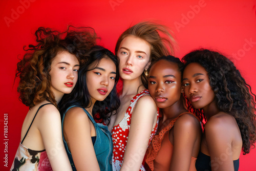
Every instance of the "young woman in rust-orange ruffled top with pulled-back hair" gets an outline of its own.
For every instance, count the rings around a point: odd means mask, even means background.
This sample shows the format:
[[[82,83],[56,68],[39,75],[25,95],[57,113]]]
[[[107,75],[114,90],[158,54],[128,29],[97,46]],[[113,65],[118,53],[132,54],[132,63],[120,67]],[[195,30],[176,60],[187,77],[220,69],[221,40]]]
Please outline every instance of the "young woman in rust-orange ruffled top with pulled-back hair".
[[[161,114],[146,153],[151,170],[196,170],[202,131],[199,119],[183,106],[182,69],[174,56],[159,58],[150,69],[148,90]]]

